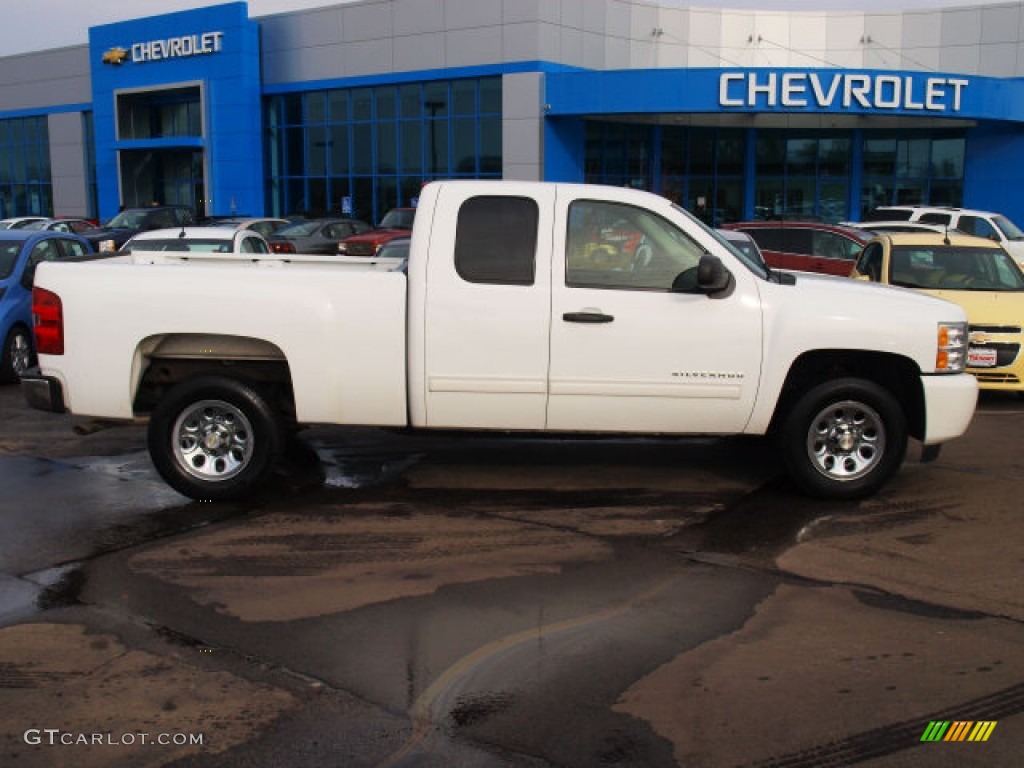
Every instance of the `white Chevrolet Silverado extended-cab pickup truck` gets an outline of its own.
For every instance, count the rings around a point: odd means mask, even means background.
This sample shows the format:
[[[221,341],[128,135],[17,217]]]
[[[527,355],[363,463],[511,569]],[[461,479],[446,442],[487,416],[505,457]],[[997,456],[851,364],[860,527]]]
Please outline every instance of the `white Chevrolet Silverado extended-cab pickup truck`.
[[[310,424],[768,434],[805,492],[856,498],[968,427],[964,311],[767,271],[633,189],[440,181],[408,265],[134,252],[44,263],[28,401],[148,419],[161,475],[240,499]]]

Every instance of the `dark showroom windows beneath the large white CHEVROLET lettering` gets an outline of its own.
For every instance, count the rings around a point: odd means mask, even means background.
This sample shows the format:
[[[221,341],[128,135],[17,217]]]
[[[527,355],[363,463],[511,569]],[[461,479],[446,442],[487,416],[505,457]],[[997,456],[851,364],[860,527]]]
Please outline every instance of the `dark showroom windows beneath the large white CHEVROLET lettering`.
[[[655,191],[716,226],[745,218],[835,222],[878,205],[963,205],[965,154],[959,130],[897,135],[594,120],[586,124],[583,172],[587,182]]]

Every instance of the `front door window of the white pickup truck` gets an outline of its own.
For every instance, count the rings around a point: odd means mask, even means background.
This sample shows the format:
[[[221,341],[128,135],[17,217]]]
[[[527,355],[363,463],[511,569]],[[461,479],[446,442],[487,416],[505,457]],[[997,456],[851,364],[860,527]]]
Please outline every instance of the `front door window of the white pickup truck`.
[[[569,206],[565,284],[572,288],[669,291],[705,250],[672,222],[621,203]]]

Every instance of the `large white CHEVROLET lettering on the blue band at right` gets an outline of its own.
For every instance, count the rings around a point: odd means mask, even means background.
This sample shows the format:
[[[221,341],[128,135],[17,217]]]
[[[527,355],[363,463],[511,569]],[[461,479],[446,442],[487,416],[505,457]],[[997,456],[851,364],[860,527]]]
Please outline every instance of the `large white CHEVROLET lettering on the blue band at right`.
[[[959,112],[969,81],[951,77],[816,72],[729,72],[719,77],[720,106],[782,106]]]

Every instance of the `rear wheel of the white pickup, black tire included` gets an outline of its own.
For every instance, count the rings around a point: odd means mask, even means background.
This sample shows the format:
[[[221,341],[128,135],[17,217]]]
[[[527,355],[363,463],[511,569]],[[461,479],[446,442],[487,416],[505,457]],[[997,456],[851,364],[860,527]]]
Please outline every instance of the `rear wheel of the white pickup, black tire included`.
[[[242,501],[274,473],[281,418],[245,382],[201,376],[174,386],[150,419],[150,456],[177,492],[197,501]]]

